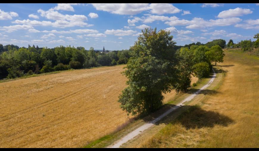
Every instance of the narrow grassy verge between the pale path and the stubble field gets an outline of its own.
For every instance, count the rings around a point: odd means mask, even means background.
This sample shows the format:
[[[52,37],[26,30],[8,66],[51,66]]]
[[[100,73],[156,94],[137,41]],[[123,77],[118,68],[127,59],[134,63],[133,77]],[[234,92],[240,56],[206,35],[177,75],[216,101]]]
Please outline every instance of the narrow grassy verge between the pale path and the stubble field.
[[[212,74],[211,74],[212,75]],[[210,76],[211,76],[210,75]],[[158,110],[155,113],[152,113],[148,116],[145,117],[136,117],[133,119],[131,122],[129,122],[124,128],[117,129],[115,132],[112,134],[106,135],[100,139],[97,139],[93,142],[90,142],[89,144],[83,146],[84,148],[103,148],[107,147],[117,140],[121,139],[123,136],[128,134],[129,132],[135,130],[136,128],[142,126],[143,124],[146,123],[146,121],[150,121],[159,115],[161,115],[165,110],[168,110],[172,105],[176,105],[179,102],[181,102],[184,98],[188,97],[188,95],[191,95],[193,92],[197,91],[197,89],[200,89],[203,85],[205,85],[208,81],[210,80],[209,78],[203,78],[200,79],[199,81],[196,82],[196,86],[191,86],[189,89],[188,93],[183,93],[180,92],[176,94],[176,96],[172,99],[169,100],[168,103],[163,105],[160,110]]]

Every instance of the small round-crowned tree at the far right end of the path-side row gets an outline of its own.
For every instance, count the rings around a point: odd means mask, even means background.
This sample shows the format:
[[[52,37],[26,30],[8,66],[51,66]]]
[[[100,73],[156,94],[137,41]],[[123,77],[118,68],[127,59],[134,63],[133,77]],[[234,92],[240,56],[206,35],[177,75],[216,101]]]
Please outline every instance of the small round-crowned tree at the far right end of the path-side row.
[[[217,62],[223,62],[224,58],[224,51],[219,45],[212,46],[210,48],[210,51],[205,52],[205,55],[211,62],[215,62],[215,65],[217,65]]]

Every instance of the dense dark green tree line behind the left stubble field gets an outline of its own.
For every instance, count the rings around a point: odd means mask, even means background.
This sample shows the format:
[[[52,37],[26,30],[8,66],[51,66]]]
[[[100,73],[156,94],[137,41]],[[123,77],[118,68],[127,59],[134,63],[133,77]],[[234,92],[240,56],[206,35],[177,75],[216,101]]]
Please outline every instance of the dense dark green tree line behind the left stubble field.
[[[126,64],[129,50],[95,51],[93,47],[57,46],[28,48],[0,44],[0,78],[16,78],[60,70]]]

